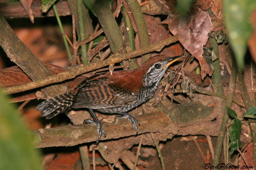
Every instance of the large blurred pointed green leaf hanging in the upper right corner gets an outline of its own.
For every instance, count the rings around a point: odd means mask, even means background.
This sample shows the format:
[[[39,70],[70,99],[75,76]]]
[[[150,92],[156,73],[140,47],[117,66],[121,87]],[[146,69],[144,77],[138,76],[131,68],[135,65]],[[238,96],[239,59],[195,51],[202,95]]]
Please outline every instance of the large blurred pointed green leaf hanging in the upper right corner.
[[[225,28],[239,69],[244,68],[247,41],[253,31],[250,15],[256,6],[255,0],[223,0]]]

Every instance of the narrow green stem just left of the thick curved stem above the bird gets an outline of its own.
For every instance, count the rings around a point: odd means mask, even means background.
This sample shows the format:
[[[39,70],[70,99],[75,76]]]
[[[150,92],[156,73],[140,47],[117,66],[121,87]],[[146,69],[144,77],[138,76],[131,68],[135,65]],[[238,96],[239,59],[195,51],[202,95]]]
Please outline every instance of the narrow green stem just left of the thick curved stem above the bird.
[[[132,23],[130,21],[130,18],[128,16],[124,6],[122,6],[121,11],[122,11],[123,18],[124,18],[124,26],[129,28],[128,36],[129,36],[129,41],[130,41],[130,47],[132,50],[135,50],[136,48],[135,48],[134,32],[133,32],[133,28],[132,28]],[[136,58],[132,58],[131,61],[128,62],[128,64],[129,64],[129,70],[133,70],[133,69],[140,67]]]

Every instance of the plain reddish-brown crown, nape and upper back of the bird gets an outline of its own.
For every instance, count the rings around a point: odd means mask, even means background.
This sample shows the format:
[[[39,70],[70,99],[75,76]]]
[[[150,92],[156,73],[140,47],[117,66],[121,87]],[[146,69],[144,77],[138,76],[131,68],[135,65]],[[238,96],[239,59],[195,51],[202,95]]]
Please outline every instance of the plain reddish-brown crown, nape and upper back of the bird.
[[[168,60],[169,57],[165,55],[157,55],[149,58],[145,63],[143,63],[138,69],[134,70],[124,70],[105,74],[116,87],[130,91],[131,93],[137,93],[143,87],[142,81],[144,76],[148,72],[148,69],[152,67],[155,63],[163,60]]]

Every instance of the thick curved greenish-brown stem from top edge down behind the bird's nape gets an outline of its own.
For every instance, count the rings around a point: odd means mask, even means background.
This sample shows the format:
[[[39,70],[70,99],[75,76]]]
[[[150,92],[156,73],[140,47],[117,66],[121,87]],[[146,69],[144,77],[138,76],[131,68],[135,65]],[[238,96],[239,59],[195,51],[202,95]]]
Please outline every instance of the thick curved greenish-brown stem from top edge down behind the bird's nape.
[[[130,10],[132,11],[132,16],[134,18],[134,21],[137,27],[139,41],[140,41],[140,48],[149,46],[150,41],[148,36],[148,29],[147,29],[146,21],[144,18],[144,14],[142,13],[140,8],[140,4],[138,3],[137,0],[126,0],[126,2]],[[144,63],[150,57],[151,57],[151,53],[143,55],[141,57],[141,63]]]

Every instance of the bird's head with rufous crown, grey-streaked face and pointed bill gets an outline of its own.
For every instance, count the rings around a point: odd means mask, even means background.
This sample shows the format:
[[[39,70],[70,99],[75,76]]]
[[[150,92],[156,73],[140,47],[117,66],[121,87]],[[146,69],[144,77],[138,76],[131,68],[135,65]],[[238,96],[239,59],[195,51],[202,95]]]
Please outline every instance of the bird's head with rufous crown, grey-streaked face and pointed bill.
[[[143,63],[139,70],[144,72],[143,84],[146,87],[159,84],[161,78],[164,76],[167,68],[175,61],[184,57],[183,55],[176,57],[167,57],[165,55],[157,55],[149,58]]]

